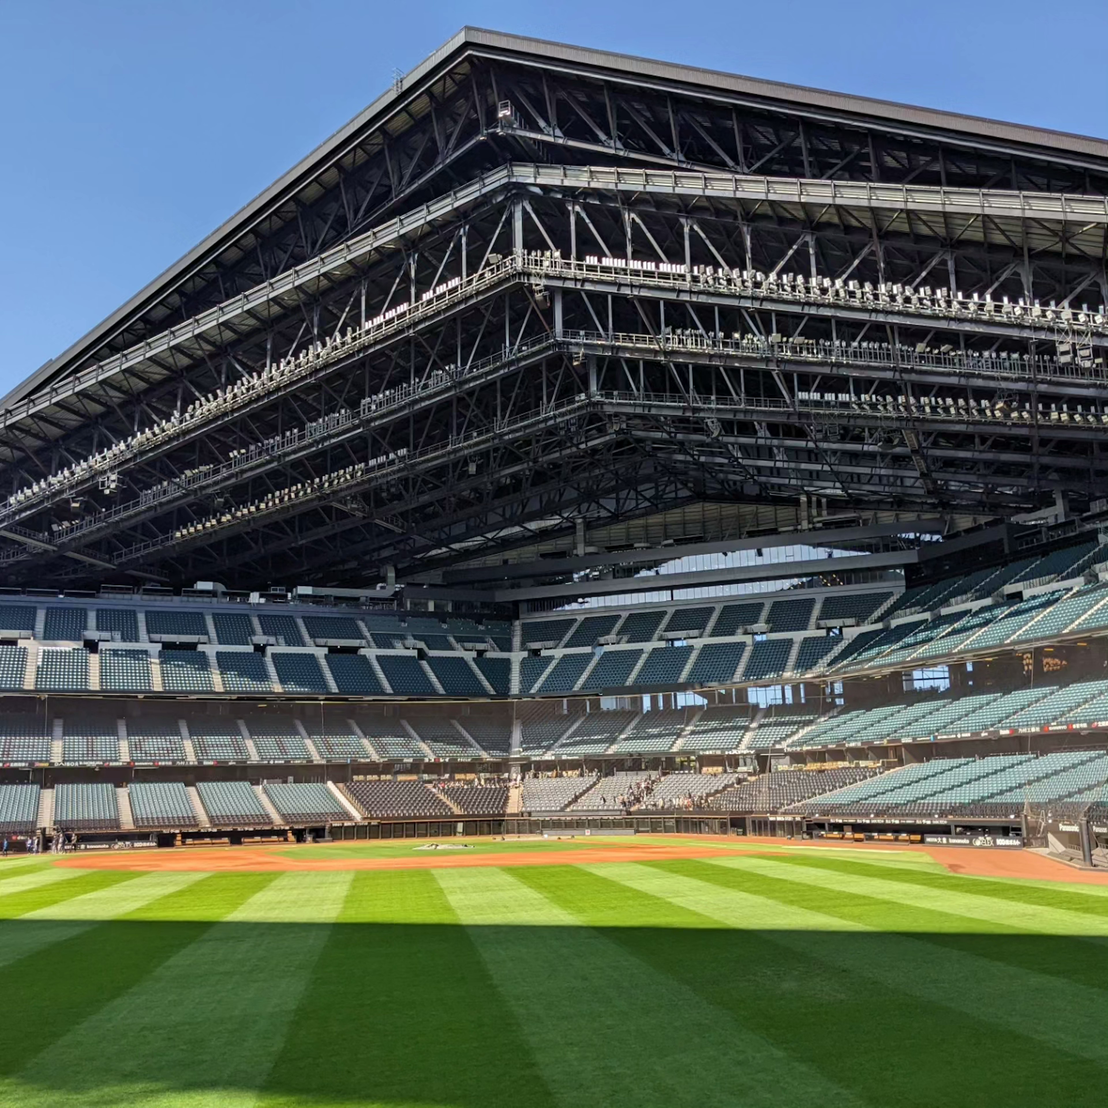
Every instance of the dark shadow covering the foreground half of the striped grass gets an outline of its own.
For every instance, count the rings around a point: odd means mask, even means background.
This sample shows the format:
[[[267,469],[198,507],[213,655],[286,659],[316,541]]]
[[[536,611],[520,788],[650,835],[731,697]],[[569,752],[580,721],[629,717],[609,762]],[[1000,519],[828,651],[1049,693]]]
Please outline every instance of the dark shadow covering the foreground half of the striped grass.
[[[196,957],[202,947],[189,947],[213,927],[244,944],[265,974],[208,973],[197,960],[195,987],[156,1007],[164,1002],[160,973],[175,958]],[[987,974],[967,978],[945,1004],[921,998],[910,979],[895,987],[888,976],[848,968],[888,960],[897,938],[933,938],[936,973],[952,942],[1006,974],[1061,960],[1068,979],[1044,986],[1036,974],[1034,985],[1058,989],[1056,1010],[1075,996],[1085,1003],[1088,986],[1106,985],[1102,950],[1079,938],[819,932],[808,951],[801,932],[708,926],[494,926],[481,929],[476,942],[475,934],[442,924],[98,924],[0,970],[3,1009],[20,1029],[0,1037],[8,1080],[0,1101],[125,1105],[126,1090],[146,1087],[163,1090],[156,1104],[205,1091],[218,1102],[216,1090],[261,1086],[264,1105],[541,1108],[564,1105],[570,1088],[574,1108],[661,1108],[640,1076],[659,1059],[634,1048],[613,1056],[618,1027],[623,1044],[657,1044],[660,1035],[673,1067],[686,1066],[695,1049],[700,1061],[686,1075],[681,1102],[705,1108],[781,1104],[770,1084],[756,1101],[749,1089],[741,1098],[729,1089],[737,1028],[748,1044],[808,1067],[859,1104],[1104,1104],[1108,1045],[1099,1057],[1080,1044],[1068,1049],[1065,1027],[1044,1026],[1043,998],[1030,986],[1025,1007],[998,1019],[994,997],[982,994],[975,1010]],[[312,943],[318,956],[297,971],[302,979],[290,981],[281,952]],[[490,950],[522,972],[505,978]],[[560,973],[548,972],[551,950],[566,952]],[[623,988],[611,987],[613,965],[629,967],[620,970]],[[675,981],[687,1006],[658,1003],[658,983]],[[1099,1010],[1070,1005],[1075,1028],[1105,1024],[1108,994],[1100,1001]],[[572,1049],[548,1033],[558,1020],[572,1020]],[[252,1028],[257,1034],[246,1034]],[[718,1073],[704,1065],[706,1050]]]

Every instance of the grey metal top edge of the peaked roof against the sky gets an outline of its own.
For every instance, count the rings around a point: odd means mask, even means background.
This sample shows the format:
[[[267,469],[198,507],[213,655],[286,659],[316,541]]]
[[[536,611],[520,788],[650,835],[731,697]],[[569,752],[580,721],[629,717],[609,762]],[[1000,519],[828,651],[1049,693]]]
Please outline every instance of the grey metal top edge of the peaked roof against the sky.
[[[628,54],[466,27],[406,74],[400,88],[389,89],[378,96],[349,123],[317,146],[307,157],[155,277],[145,288],[0,399],[0,409],[23,399],[44,382],[79,366],[122,324],[142,312],[167,289],[193,273],[198,265],[227,246],[228,243],[233,243],[252,223],[268,213],[275,203],[286,198],[326,166],[330,160],[339,156],[347,148],[350,140],[359,132],[371,123],[379,122],[390,110],[406,101],[413,86],[428,75],[433,74],[448,60],[465,52],[489,53],[499,57],[511,55],[524,62],[527,59],[540,59],[546,65],[561,63],[578,71],[603,70],[608,75],[634,79],[638,83],[657,81],[683,84],[700,95],[710,95],[712,92],[717,92],[727,94],[729,99],[733,99],[736,95],[747,96],[751,99],[751,102],[766,106],[791,107],[803,110],[808,114],[827,117],[850,117],[856,122],[866,121],[871,125],[883,124],[888,129],[901,133],[915,129],[932,133],[941,131],[947,135],[964,135],[967,142],[1016,144],[1028,152],[1038,148],[1048,156],[1058,157],[1060,155],[1067,161],[1108,163],[1108,141],[1104,138],[1047,131],[1017,123],[960,115],[953,112],[916,107],[848,93],[827,92],[778,81],[741,76],[691,65],[654,61]]]

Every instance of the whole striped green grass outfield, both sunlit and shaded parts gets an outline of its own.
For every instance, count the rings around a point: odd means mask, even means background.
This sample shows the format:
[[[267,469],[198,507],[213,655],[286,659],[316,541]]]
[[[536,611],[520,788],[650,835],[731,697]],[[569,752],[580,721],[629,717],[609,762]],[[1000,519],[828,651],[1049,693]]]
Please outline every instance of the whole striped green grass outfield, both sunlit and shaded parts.
[[[319,849],[339,851],[401,847]],[[1106,893],[797,849],[290,873],[10,860],[0,1106],[1104,1108]]]

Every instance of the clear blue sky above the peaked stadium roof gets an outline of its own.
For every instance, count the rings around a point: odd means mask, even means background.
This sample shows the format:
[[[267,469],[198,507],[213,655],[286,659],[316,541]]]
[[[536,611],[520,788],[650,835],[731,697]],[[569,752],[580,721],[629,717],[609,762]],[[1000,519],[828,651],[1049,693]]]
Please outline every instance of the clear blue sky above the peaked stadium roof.
[[[1108,3],[1064,12],[1029,0],[0,0],[0,394],[465,23],[1108,136]]]

